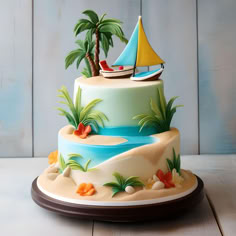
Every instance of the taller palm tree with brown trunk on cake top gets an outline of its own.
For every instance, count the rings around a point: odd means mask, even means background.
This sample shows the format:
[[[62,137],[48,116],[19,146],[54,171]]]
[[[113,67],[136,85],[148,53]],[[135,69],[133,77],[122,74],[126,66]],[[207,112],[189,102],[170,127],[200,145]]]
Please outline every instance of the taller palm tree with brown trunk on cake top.
[[[117,36],[122,42],[127,43],[128,40],[124,36],[122,31],[121,24],[122,22],[118,19],[107,18],[104,19],[106,14],[103,14],[100,18],[97,13],[92,10],[86,10],[83,12],[84,15],[88,16],[89,19],[80,19],[74,28],[75,36],[79,35],[83,31],[87,31],[86,40],[92,40],[93,35],[95,35],[95,52],[94,52],[94,64],[95,70],[92,69],[91,63],[90,67],[92,70],[92,76],[99,75],[99,53],[100,53],[100,44],[104,51],[105,56],[107,57],[110,46],[113,47],[112,36]],[[72,59],[70,59],[72,57]],[[73,61],[73,54],[67,56],[67,61]],[[72,62],[72,63],[73,63]],[[71,65],[72,63],[69,63]],[[67,67],[68,67],[67,66]],[[67,68],[66,67],[66,68]]]

